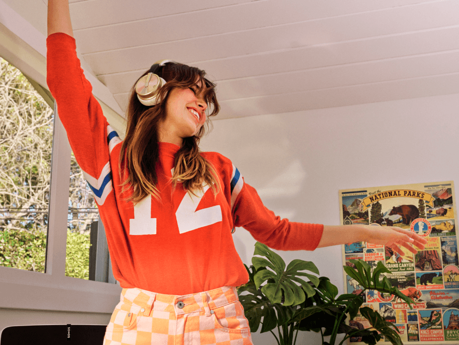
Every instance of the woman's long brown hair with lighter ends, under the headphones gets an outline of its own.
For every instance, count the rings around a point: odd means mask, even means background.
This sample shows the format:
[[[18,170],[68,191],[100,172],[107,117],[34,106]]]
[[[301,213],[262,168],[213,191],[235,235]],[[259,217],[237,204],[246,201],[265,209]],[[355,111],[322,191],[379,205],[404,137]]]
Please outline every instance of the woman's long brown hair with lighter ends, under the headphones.
[[[145,72],[140,78],[147,73]],[[220,111],[215,94],[216,85],[204,78],[206,72],[203,70],[183,64],[166,63],[157,74],[167,82],[159,91],[160,103],[155,106],[145,106],[140,103],[135,92],[136,82],[131,89],[127,106],[126,136],[121,146],[118,163],[120,178],[123,181],[122,192],[125,191],[126,186],[131,189],[132,193],[126,200],[131,200],[134,204],[150,194],[160,200],[155,169],[159,161],[158,123],[166,118],[166,102],[170,91],[175,87],[193,86],[198,93],[202,93],[209,105],[208,109],[212,107],[212,112],[206,119],[207,124],[209,117],[217,115]],[[220,190],[218,174],[201,156],[198,148],[204,133],[205,128],[202,126],[196,135],[184,138],[182,147],[175,154],[173,187],[175,188],[180,181],[184,189],[194,195],[198,190],[203,192],[205,184],[211,186],[214,194]]]

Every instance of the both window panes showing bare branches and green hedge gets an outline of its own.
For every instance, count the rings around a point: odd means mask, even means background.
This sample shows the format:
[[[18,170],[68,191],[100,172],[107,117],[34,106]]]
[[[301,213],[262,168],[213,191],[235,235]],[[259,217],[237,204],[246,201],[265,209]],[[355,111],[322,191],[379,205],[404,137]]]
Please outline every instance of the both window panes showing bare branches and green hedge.
[[[0,64],[0,265],[45,273],[54,112]],[[99,210],[71,156],[65,275],[115,283]]]

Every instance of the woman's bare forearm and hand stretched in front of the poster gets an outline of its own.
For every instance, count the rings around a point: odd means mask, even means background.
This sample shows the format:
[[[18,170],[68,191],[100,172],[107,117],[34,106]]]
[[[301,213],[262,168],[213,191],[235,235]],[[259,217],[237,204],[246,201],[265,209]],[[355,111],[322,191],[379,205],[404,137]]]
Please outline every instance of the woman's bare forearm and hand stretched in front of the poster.
[[[324,232],[318,248],[343,245],[354,242],[368,242],[375,245],[384,245],[392,248],[400,255],[404,255],[400,246],[412,253],[424,249],[427,240],[414,232],[394,226],[380,227],[373,225],[337,225],[324,226]]]

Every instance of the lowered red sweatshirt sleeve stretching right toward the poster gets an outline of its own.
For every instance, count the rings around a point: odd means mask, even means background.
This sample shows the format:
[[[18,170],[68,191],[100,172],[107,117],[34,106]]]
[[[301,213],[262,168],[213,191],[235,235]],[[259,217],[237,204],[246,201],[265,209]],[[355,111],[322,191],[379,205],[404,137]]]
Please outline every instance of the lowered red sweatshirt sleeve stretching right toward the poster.
[[[313,251],[319,245],[324,226],[290,222],[267,209],[255,188],[245,183],[233,166],[231,178],[231,207],[236,227],[248,230],[255,240],[284,251]]]

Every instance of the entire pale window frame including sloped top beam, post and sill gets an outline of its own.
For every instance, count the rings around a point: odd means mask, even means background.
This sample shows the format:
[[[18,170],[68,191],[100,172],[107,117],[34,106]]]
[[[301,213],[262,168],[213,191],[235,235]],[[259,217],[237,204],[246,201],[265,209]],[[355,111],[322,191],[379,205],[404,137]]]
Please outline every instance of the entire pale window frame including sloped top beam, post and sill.
[[[48,101],[46,37],[1,0],[0,12],[0,56]],[[122,136],[124,118],[112,93],[91,73],[85,74],[104,115]],[[65,276],[71,149],[57,112],[54,116],[46,273],[0,266],[0,308],[112,313],[119,302],[119,285]]]

